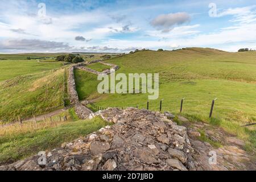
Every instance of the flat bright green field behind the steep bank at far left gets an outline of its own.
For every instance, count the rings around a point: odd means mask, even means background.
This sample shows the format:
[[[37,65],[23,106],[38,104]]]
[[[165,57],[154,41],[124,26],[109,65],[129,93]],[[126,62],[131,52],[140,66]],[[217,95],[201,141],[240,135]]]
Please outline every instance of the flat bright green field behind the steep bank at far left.
[[[0,82],[11,78],[59,68],[59,62],[38,62],[35,60],[0,60]]]

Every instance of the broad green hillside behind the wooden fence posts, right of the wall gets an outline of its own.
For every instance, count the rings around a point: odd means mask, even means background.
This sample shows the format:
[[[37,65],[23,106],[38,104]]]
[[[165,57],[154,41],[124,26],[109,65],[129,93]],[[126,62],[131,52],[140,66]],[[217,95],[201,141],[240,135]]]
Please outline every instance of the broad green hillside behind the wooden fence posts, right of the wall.
[[[213,112],[218,125],[245,140],[249,138],[256,146],[255,130],[239,127],[256,120],[255,52],[228,53],[202,48],[140,51],[108,62],[121,67],[117,73],[159,73],[160,96],[159,100],[150,101],[151,110],[159,110],[163,98],[163,110],[178,113],[180,100],[185,97],[184,114],[211,122],[210,104],[218,97]],[[97,95],[97,84],[91,86],[94,91],[90,93]],[[146,94],[104,94],[97,105],[146,108],[146,102]]]

